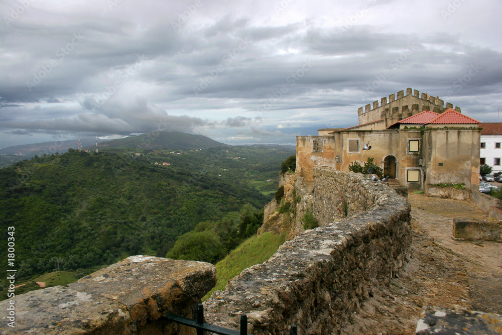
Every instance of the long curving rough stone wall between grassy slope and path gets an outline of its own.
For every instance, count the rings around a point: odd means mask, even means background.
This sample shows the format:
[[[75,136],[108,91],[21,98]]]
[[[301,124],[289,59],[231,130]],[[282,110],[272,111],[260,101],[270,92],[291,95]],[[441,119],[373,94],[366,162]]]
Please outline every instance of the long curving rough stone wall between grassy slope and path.
[[[302,334],[336,334],[406,261],[411,224],[405,198],[362,175],[323,168],[315,173],[319,210],[337,212],[338,200],[328,196],[336,192],[355,201],[350,213],[359,213],[306,231],[268,261],[242,271],[206,300],[208,322],[237,328],[239,314],[246,313],[248,332],[257,335],[288,333],[291,324]]]

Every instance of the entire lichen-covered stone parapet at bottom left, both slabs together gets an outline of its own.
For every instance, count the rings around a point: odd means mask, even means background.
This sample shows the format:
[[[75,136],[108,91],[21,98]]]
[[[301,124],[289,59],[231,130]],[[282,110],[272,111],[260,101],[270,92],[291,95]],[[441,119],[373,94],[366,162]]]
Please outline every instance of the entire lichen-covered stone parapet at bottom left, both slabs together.
[[[31,291],[15,300],[15,328],[2,334],[195,333],[162,316],[195,318],[203,297],[216,284],[212,264],[131,256],[68,287]],[[7,310],[9,300],[0,302]]]

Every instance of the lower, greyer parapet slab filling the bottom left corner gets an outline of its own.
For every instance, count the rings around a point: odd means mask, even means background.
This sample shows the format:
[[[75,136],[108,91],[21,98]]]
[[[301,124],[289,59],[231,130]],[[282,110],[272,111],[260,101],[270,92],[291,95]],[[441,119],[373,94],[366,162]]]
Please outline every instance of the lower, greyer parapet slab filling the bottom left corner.
[[[0,302],[6,311],[9,300]],[[131,334],[131,316],[119,302],[93,297],[63,286],[16,296],[14,328],[2,318],[3,334]]]

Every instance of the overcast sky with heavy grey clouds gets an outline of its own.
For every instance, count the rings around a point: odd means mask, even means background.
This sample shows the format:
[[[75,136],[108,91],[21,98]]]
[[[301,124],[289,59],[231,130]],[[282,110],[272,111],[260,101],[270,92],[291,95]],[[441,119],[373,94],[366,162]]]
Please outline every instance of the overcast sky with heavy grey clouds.
[[[484,122],[502,107],[499,1],[2,0],[0,13],[0,148],[155,130],[294,143],[407,87]]]

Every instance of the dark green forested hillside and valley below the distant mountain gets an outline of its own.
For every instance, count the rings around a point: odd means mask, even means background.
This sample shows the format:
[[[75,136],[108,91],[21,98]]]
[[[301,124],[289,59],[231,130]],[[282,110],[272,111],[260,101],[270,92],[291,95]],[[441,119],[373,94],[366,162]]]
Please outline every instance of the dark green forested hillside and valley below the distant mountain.
[[[51,271],[56,259],[71,271],[133,254],[165,257],[199,222],[236,224],[244,204],[262,208],[292,152],[70,149],[18,162],[0,169],[1,245],[7,249],[7,227],[15,227],[18,278]]]

